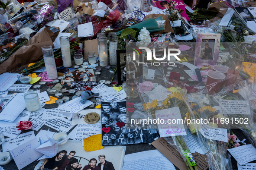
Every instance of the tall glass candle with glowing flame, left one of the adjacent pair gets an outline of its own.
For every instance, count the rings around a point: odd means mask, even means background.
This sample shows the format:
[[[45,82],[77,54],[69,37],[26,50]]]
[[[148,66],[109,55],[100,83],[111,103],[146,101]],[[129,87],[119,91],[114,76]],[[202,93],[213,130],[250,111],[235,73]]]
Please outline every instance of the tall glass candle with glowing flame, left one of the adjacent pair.
[[[107,38],[98,38],[99,56],[100,56],[100,66],[107,66]]]

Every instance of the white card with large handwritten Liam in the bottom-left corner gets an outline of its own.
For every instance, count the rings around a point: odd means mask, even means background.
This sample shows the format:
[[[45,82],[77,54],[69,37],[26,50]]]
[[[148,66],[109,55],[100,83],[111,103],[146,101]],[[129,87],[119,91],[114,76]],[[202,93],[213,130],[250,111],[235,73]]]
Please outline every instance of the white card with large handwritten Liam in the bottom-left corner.
[[[36,161],[39,157],[42,157],[43,154],[35,150],[39,145],[39,140],[34,138],[10,150],[10,154],[19,170]]]

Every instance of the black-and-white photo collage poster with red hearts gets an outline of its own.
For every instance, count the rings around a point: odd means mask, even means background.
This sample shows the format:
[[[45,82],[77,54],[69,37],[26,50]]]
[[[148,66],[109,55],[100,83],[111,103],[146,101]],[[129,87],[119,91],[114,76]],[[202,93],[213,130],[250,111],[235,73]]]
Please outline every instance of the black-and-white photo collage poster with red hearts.
[[[131,110],[133,111],[131,112]],[[127,106],[127,116],[126,101],[101,103],[102,145],[150,143],[159,138],[158,132],[156,129],[152,129],[152,125],[135,124],[131,126],[133,128],[126,126],[126,121],[130,122],[130,115],[136,118],[146,117],[140,101],[134,103],[132,107]]]

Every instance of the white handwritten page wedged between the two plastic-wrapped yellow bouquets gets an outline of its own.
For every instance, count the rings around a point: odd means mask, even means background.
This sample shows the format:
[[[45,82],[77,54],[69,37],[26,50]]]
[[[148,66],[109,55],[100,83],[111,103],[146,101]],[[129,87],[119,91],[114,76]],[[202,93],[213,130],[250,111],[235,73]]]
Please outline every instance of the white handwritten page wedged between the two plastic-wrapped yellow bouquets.
[[[201,143],[198,140],[197,135],[192,135],[190,130],[187,129],[187,140],[186,140],[186,145],[189,148],[191,153],[198,152],[199,154],[206,154],[206,151],[202,147]]]

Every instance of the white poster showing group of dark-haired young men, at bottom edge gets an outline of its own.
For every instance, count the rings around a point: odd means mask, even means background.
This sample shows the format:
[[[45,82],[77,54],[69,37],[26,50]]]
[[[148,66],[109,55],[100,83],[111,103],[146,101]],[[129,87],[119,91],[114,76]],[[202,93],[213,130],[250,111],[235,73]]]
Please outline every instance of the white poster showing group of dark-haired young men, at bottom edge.
[[[69,140],[65,145],[58,146],[54,157],[40,160],[34,170],[120,170],[125,148],[114,147],[119,148],[104,147],[87,152],[81,148],[80,142]]]

